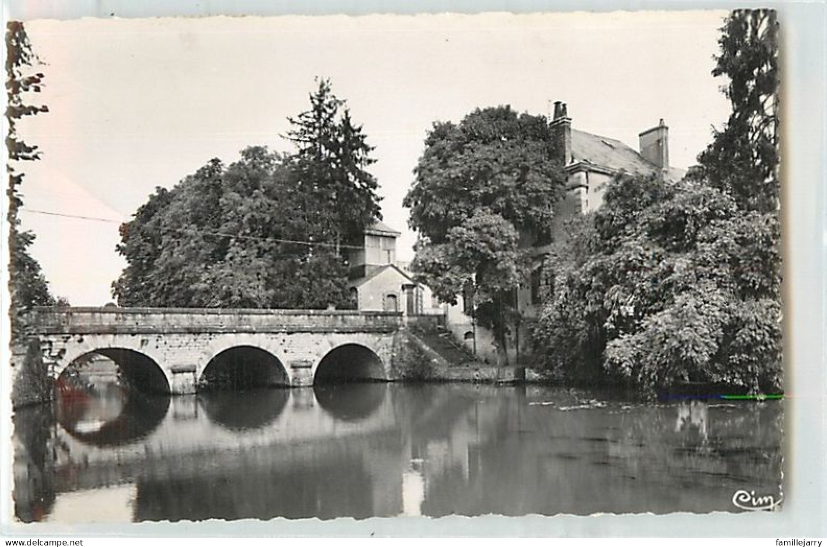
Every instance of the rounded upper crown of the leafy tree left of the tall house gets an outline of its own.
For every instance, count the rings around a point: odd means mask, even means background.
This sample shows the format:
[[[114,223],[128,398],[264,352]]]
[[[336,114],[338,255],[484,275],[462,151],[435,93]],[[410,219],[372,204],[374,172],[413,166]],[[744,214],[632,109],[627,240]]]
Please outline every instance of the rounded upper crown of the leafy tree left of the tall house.
[[[553,143],[545,117],[510,107],[477,109],[459,125],[435,123],[404,199],[411,227],[440,244],[485,207],[518,231],[547,235],[563,184]]]

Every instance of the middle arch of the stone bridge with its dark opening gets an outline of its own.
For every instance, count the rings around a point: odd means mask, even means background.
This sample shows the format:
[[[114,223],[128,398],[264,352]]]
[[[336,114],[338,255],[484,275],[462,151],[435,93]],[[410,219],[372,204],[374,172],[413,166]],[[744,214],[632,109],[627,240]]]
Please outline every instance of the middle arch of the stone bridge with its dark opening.
[[[203,350],[196,373],[199,388],[291,385],[281,349],[262,335],[229,335],[213,340]]]

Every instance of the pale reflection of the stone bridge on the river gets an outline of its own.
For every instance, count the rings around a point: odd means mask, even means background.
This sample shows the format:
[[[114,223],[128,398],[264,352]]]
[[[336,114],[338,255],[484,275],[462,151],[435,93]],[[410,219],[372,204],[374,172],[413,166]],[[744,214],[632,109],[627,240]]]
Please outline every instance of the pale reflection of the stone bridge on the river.
[[[328,390],[340,392],[335,401]],[[162,453],[220,453],[370,435],[394,427],[388,390],[385,383],[357,383],[180,397],[125,394],[122,413],[110,421],[59,411],[58,437],[65,454],[58,464],[108,461],[112,449],[117,449],[118,464],[127,464]]]

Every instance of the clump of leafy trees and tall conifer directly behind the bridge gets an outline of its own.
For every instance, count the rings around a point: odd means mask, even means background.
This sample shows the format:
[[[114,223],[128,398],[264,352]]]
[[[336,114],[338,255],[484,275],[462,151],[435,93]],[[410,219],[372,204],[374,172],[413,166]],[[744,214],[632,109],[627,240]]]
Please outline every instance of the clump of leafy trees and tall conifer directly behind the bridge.
[[[378,216],[370,147],[329,83],[311,104],[294,121],[296,154],[250,147],[228,167],[213,159],[156,189],[121,227],[121,305],[349,305],[342,239]]]

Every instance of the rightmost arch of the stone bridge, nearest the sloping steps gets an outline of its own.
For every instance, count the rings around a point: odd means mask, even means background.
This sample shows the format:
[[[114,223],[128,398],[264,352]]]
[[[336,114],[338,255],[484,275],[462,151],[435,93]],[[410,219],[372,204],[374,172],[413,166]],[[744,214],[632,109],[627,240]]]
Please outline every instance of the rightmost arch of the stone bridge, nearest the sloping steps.
[[[388,373],[377,351],[357,342],[328,350],[313,372],[314,384],[387,381]]]

